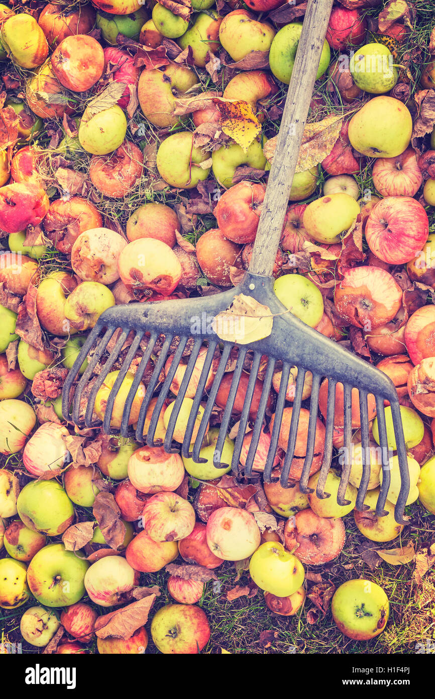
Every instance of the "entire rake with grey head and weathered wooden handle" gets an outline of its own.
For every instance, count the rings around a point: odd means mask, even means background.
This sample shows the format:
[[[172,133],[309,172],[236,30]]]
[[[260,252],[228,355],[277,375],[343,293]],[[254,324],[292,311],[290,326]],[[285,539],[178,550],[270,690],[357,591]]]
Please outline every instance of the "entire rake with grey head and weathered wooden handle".
[[[140,352],[142,352],[133,383],[131,384],[131,388],[128,391],[124,403],[120,433],[124,436],[131,435],[132,433],[128,422],[133,405],[133,398],[140,387],[142,376],[149,366],[150,359],[154,359],[154,371],[149,379],[145,398],[143,398],[142,405],[140,406],[138,422],[135,428],[135,439],[138,440],[138,442],[146,442],[149,446],[156,446],[154,435],[161,410],[165,405],[168,394],[170,394],[170,385],[175,376],[177,366],[179,366],[183,356],[188,355],[189,359],[187,361],[184,377],[179,387],[177,397],[175,398],[174,405],[172,406],[172,414],[170,415],[163,442],[163,447],[166,452],[171,453],[179,451],[179,445],[175,448],[172,443],[175,424],[200,349],[207,347],[205,361],[200,373],[198,390],[193,398],[193,404],[191,405],[191,412],[184,434],[184,441],[181,447],[182,456],[191,457],[196,463],[205,461],[205,459],[200,458],[200,448],[207,431],[209,419],[212,416],[216,395],[225,373],[227,362],[232,356],[231,352],[233,347],[235,347],[235,343],[223,341],[217,336],[216,328],[214,326],[210,327],[210,321],[220,312],[228,309],[233,303],[235,296],[239,294],[251,296],[259,303],[266,305],[272,314],[274,314],[272,333],[267,338],[256,340],[249,345],[237,346],[237,363],[233,371],[233,380],[231,382],[228,400],[223,409],[219,436],[214,450],[214,466],[216,466],[216,468],[226,468],[228,466],[226,463],[221,463],[221,452],[228,433],[237,388],[244,369],[244,362],[249,358],[252,360],[251,373],[246,387],[244,405],[240,415],[239,429],[235,440],[235,449],[231,466],[235,471],[239,468],[242,441],[249,417],[251,417],[254,421],[251,443],[244,466],[244,475],[248,478],[253,477],[253,459],[254,456],[256,456],[256,450],[263,428],[274,368],[275,366],[282,366],[274,425],[270,433],[270,449],[265,460],[264,468],[265,482],[272,482],[272,469],[274,466],[274,457],[277,452],[283,410],[286,403],[286,389],[288,387],[290,369],[296,366],[297,380],[295,397],[290,421],[288,445],[286,454],[283,457],[281,469],[281,486],[286,488],[293,485],[293,482],[289,481],[289,473],[295,454],[295,442],[302,404],[304,377],[309,371],[312,373],[313,382],[307,430],[307,451],[302,467],[302,475],[300,477],[300,490],[303,493],[312,492],[312,489],[308,487],[308,480],[314,456],[316,419],[318,416],[318,394],[321,380],[327,377],[325,450],[316,487],[317,496],[319,498],[330,496],[330,493],[325,493],[325,482],[332,462],[335,389],[337,384],[341,383],[343,384],[344,393],[344,463],[341,469],[337,503],[339,503],[339,505],[349,504],[349,500],[346,500],[346,489],[351,472],[352,389],[357,389],[357,391],[359,391],[360,405],[362,478],[357,491],[355,507],[357,510],[367,509],[367,505],[364,505],[364,497],[367,493],[371,470],[367,396],[369,394],[374,394],[376,398],[383,468],[383,481],[376,503],[376,514],[378,517],[387,514],[387,512],[384,511],[384,506],[388,496],[388,490],[390,489],[391,480],[387,428],[384,413],[384,401],[386,400],[389,401],[392,411],[392,421],[395,430],[397,456],[401,476],[399,498],[395,505],[395,519],[400,524],[406,524],[407,520],[404,519],[404,508],[409,491],[409,474],[399,399],[394,384],[390,378],[380,370],[377,370],[369,365],[369,363],[351,354],[351,352],[348,352],[332,340],[325,338],[325,336],[311,329],[311,327],[304,324],[300,319],[293,316],[281,304],[273,291],[274,280],[271,276],[272,269],[279,247],[283,220],[288,206],[288,196],[295,173],[297,157],[302,142],[302,134],[307,120],[311,95],[316,80],[316,71],[320,61],[320,52],[325,39],[331,8],[332,0],[311,0],[308,3],[302,34],[297,48],[293,74],[288,88],[286,105],[281,120],[281,127],[277,138],[277,148],[267,183],[265,200],[253,247],[251,263],[249,265],[249,271],[246,271],[242,282],[235,288],[213,296],[192,298],[186,301],[131,303],[128,305],[117,305],[105,310],[98,319],[94,329],[89,333],[80,354],[68,374],[64,384],[62,412],[65,419],[71,420],[72,417],[73,422],[79,426],[94,427],[102,425],[105,433],[113,433],[111,419],[115,398],[131,366],[131,362],[133,359],[138,361],[138,354],[140,355]],[[200,323],[199,327],[198,324],[196,324],[195,331],[192,331],[193,322],[198,318],[206,318],[207,322]],[[134,333],[134,338],[126,354],[124,348],[124,359],[121,361],[117,379],[108,395],[104,418],[101,422],[101,420],[95,419],[96,416],[94,414],[96,394],[98,389],[102,386],[105,377],[107,377],[108,373],[112,370],[112,367],[116,366],[117,368],[119,366],[119,354],[127,338],[129,336],[131,338],[130,333],[132,331]],[[108,352],[106,351],[106,347],[108,347],[110,340],[112,340],[110,345],[111,349],[110,352]],[[155,359],[157,354],[155,347],[158,347],[160,350],[157,359]],[[93,354],[89,354],[91,350],[93,350]],[[217,368],[216,354],[219,355],[219,364]],[[88,355],[89,363],[82,377],[78,380],[80,367]],[[168,359],[168,356],[171,355],[172,363],[162,383],[161,377],[164,375],[162,372],[165,361]],[[256,410],[256,415],[253,417],[252,415],[250,416],[249,413],[254,389],[256,387],[258,370],[262,360],[264,362],[265,357],[267,357],[267,368],[265,369],[263,389],[258,403],[258,410]],[[102,363],[102,360],[105,360],[105,363]],[[117,362],[116,365],[115,362]],[[208,390],[207,395],[205,393],[205,385],[212,363],[213,367],[216,368],[216,374],[212,387]],[[94,378],[95,375],[96,379]],[[78,383],[76,384],[77,380]],[[94,380],[94,384],[89,391],[91,380]],[[156,389],[158,389],[158,392]],[[155,395],[156,393],[157,397]],[[84,396],[86,396],[85,400]],[[149,412],[150,401],[153,397],[156,398],[156,402],[149,421],[149,414],[147,415],[147,413]],[[205,401],[205,403],[202,401]],[[87,407],[83,419],[81,413],[84,402]],[[71,403],[72,415],[70,412]],[[198,433],[193,441],[193,428],[197,424],[198,410],[201,405],[204,411],[200,420]],[[146,433],[144,433],[145,420],[147,420]],[[161,442],[159,443],[161,444]]]

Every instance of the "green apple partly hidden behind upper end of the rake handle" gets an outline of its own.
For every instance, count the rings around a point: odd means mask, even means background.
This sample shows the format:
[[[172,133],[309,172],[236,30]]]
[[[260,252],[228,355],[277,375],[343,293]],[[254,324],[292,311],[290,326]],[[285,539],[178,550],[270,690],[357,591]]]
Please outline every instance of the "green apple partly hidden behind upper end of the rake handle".
[[[290,24],[286,24],[285,27],[282,27],[282,29],[278,31],[270,47],[270,70],[275,78],[278,78],[281,82],[285,82],[286,85],[289,84],[291,74],[293,73],[293,66],[295,64],[296,51],[301,33],[302,22],[290,22]],[[320,63],[318,64],[316,80],[321,78],[323,73],[326,72],[327,66],[330,64],[330,59],[330,45],[325,39],[320,55]]]

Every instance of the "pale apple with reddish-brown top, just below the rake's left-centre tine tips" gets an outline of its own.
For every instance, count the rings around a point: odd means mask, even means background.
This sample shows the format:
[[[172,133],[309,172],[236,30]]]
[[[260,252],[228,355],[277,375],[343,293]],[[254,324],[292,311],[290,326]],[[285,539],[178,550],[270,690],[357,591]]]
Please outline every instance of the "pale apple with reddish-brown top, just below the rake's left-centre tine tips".
[[[175,491],[184,478],[182,457],[163,447],[139,447],[128,460],[128,478],[142,493]]]

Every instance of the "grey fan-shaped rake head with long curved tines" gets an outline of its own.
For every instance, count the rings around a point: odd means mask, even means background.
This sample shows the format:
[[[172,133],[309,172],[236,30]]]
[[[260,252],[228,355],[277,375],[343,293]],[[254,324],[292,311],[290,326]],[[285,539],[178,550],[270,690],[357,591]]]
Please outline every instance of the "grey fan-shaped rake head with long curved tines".
[[[157,446],[154,442],[154,435],[161,410],[166,405],[167,399],[172,397],[174,405],[170,415],[169,424],[166,428],[163,447],[166,452],[179,452],[179,444],[175,446],[172,438],[175,424],[182,407],[182,401],[186,396],[186,389],[193,373],[198,354],[202,349],[205,352],[205,361],[202,366],[198,389],[193,398],[189,420],[187,422],[184,440],[182,442],[182,456],[190,457],[196,463],[205,461],[200,458],[202,441],[207,431],[209,419],[215,405],[216,395],[223,379],[227,362],[230,359],[234,343],[224,342],[216,336],[212,327],[212,319],[221,311],[225,310],[233,302],[237,294],[252,296],[259,303],[267,305],[275,315],[273,321],[272,334],[263,339],[257,340],[251,345],[239,345],[237,347],[237,363],[233,371],[233,380],[230,384],[228,399],[219,427],[219,436],[214,451],[214,466],[216,468],[226,468],[228,464],[221,463],[221,453],[223,443],[228,433],[230,419],[233,416],[233,407],[237,394],[237,388],[242,376],[245,362],[251,361],[251,373],[246,385],[244,395],[244,405],[239,417],[240,424],[231,467],[239,470],[239,456],[242,450],[242,442],[249,419],[253,420],[252,438],[249,452],[244,466],[244,475],[252,477],[253,459],[256,456],[258,441],[263,428],[268,401],[270,401],[270,389],[272,376],[276,367],[282,366],[281,383],[275,405],[275,415],[273,427],[270,433],[270,449],[267,454],[264,468],[265,482],[273,479],[272,468],[277,452],[279,432],[283,421],[283,411],[286,405],[286,391],[290,369],[297,366],[297,380],[295,388],[295,398],[292,404],[293,412],[290,421],[290,432],[288,435],[288,445],[286,454],[283,457],[280,482],[286,488],[293,485],[289,481],[290,467],[295,454],[297,426],[300,418],[302,405],[302,389],[304,387],[304,377],[307,371],[313,376],[311,401],[309,407],[309,425],[307,431],[307,450],[300,477],[300,490],[303,493],[312,491],[308,487],[309,472],[314,458],[314,447],[316,440],[316,424],[318,423],[318,395],[320,382],[327,377],[327,415],[325,420],[325,447],[323,452],[323,463],[320,468],[320,476],[316,487],[316,494],[320,498],[329,496],[325,493],[325,482],[327,473],[332,462],[332,436],[334,430],[334,410],[335,410],[335,390],[337,384],[343,384],[344,395],[344,449],[343,463],[341,469],[341,481],[337,493],[339,505],[349,503],[346,500],[346,489],[348,487],[349,475],[351,472],[351,439],[352,439],[352,391],[359,391],[360,405],[360,430],[362,443],[362,478],[357,493],[357,510],[367,509],[363,505],[364,497],[367,493],[367,486],[370,477],[370,443],[369,443],[369,411],[367,407],[367,396],[374,394],[376,398],[376,413],[378,417],[379,442],[382,454],[383,481],[381,491],[376,505],[378,517],[387,514],[384,512],[385,500],[390,489],[390,459],[387,441],[387,429],[385,423],[384,400],[390,402],[392,419],[395,427],[395,438],[397,443],[397,456],[401,475],[401,489],[399,498],[395,506],[395,519],[401,524],[406,523],[404,519],[404,507],[409,491],[409,475],[406,458],[406,445],[401,424],[399,401],[394,384],[390,378],[381,371],[369,365],[359,357],[351,354],[343,347],[325,338],[314,329],[301,322],[290,312],[286,311],[278,301],[272,289],[271,278],[253,273],[246,273],[242,284],[238,287],[224,291],[221,294],[208,296],[205,298],[193,298],[189,301],[161,301],[156,303],[133,303],[125,306],[115,306],[106,310],[94,329],[84,343],[78,358],[76,359],[71,372],[64,384],[62,398],[62,412],[64,418],[72,420],[79,426],[96,427],[102,426],[103,431],[112,434],[119,431],[121,435],[135,435],[138,442],[146,442],[149,446]],[[134,337],[131,344],[126,344],[130,333],[133,331]],[[116,333],[116,334],[115,334]],[[110,343],[111,340],[111,343]],[[110,343],[110,345],[109,345]],[[111,347],[110,352],[106,348]],[[160,350],[156,357],[156,348]],[[206,348],[206,350],[205,350]],[[166,375],[163,373],[165,361],[172,354],[172,363]],[[89,356],[89,363],[84,373],[80,377],[79,370],[86,357]],[[175,376],[179,362],[183,356],[189,356],[187,360],[184,377],[179,387],[176,397],[170,394],[170,385]],[[121,359],[120,359],[121,357]],[[217,357],[217,360],[216,360]],[[253,413],[251,408],[254,389],[260,363],[264,363],[267,358],[267,367],[263,388],[256,410]],[[105,362],[103,363],[103,361]],[[150,360],[154,361],[154,369],[149,370]],[[217,368],[216,368],[217,363]],[[216,369],[216,374],[212,387],[208,394],[205,393],[205,386],[209,370]],[[136,368],[137,367],[137,368]],[[119,373],[107,396],[103,420],[96,419],[94,412],[96,395],[101,388],[105,378],[110,371],[119,368]],[[130,370],[134,373],[133,382],[126,394],[121,424],[117,423],[114,428],[112,412],[115,398],[118,394],[121,383]],[[146,378],[145,378],[146,377]],[[145,378],[147,384],[145,397],[143,397],[140,410],[138,411],[137,424],[135,429],[131,426],[131,410],[133,399],[140,389],[142,380]],[[154,398],[154,408],[150,410],[150,402]],[[72,415],[71,415],[72,402]],[[84,407],[85,406],[85,407]],[[198,428],[198,410],[203,408]],[[145,425],[147,428],[145,429]],[[193,429],[197,430],[196,437],[192,439]],[[161,442],[158,442],[161,445]]]

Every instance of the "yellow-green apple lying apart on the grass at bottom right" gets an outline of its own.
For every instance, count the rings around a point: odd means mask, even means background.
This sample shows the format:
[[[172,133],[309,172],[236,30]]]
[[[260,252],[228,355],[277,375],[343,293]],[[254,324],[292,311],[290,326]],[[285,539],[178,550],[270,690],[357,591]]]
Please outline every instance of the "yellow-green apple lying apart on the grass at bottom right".
[[[341,633],[356,641],[367,641],[383,632],[390,604],[376,583],[348,580],[335,591],[331,611]]]

